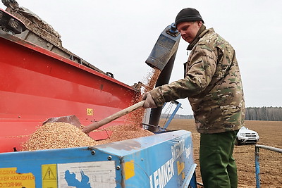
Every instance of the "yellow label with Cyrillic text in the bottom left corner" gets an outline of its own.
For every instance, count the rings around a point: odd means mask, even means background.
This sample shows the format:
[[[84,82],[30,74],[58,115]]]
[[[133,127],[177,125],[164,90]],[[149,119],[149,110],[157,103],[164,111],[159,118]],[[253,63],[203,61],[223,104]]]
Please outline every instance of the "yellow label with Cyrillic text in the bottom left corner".
[[[35,176],[32,173],[17,173],[17,168],[0,168],[0,187],[35,188]]]

